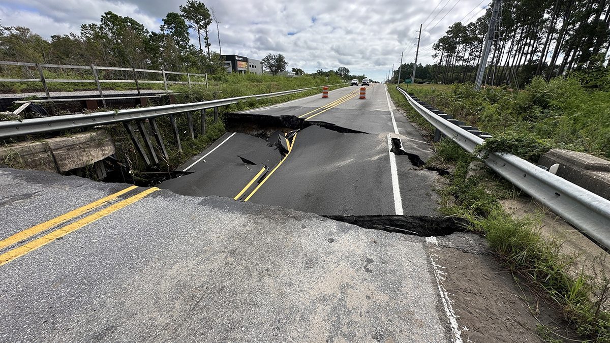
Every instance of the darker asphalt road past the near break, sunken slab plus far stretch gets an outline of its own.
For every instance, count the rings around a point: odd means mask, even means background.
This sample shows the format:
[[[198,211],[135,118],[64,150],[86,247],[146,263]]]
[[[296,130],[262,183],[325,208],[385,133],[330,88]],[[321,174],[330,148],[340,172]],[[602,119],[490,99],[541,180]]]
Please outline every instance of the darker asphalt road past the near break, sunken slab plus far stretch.
[[[159,185],[173,192],[218,195],[323,215],[437,215],[434,187],[439,175],[413,165],[409,156],[391,150],[391,138],[400,139],[407,153],[422,161],[432,151],[403,115],[395,114],[386,85],[345,87],[320,95],[243,113],[293,115],[323,121],[365,133],[343,133],[309,126],[293,138],[284,156],[273,156],[267,141],[245,133],[229,132],[179,170],[193,173]]]

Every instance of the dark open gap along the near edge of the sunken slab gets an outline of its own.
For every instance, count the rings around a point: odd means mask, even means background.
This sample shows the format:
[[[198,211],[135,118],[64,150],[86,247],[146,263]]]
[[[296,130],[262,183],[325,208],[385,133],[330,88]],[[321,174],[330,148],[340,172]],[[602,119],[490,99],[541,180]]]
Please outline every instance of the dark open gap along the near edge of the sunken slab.
[[[366,229],[414,236],[447,236],[465,231],[465,220],[428,215],[324,215],[323,217]]]

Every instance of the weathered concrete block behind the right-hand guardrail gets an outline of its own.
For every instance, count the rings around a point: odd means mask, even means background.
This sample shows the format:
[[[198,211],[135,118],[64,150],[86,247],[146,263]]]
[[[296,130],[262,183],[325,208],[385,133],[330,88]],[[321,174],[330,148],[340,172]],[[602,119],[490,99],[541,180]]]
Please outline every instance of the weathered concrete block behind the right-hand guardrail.
[[[552,149],[538,164],[559,164],[556,175],[610,200],[610,161],[578,151]]]

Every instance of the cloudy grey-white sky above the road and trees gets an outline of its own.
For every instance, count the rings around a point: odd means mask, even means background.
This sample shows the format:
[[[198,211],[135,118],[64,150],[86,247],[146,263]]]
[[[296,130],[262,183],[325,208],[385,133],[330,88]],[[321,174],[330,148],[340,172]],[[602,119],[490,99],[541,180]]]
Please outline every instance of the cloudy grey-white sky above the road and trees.
[[[99,23],[106,11],[131,16],[159,31],[168,12],[186,0],[0,0],[3,26],[26,26],[45,38],[79,32],[82,23]],[[223,54],[262,59],[284,54],[290,68],[311,73],[347,67],[352,74],[386,78],[392,64],[415,58],[417,31],[423,23],[418,62],[432,62],[432,43],[456,21],[484,14],[488,0],[206,0],[220,21]],[[470,20],[468,20],[470,19]],[[218,51],[212,24],[212,48]],[[195,42],[195,36],[192,36]]]

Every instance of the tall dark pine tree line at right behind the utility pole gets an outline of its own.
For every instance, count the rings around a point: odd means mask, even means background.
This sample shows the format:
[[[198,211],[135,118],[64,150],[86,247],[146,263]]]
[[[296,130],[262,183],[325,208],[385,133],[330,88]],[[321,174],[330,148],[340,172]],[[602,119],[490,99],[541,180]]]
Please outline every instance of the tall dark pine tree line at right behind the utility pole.
[[[423,74],[418,67],[416,79],[474,82],[491,7],[473,23],[451,25],[432,45],[437,62],[424,66]],[[608,68],[610,0],[504,0],[500,13],[484,74],[487,84],[519,88],[534,76],[550,79]],[[396,82],[397,74],[390,81]]]

